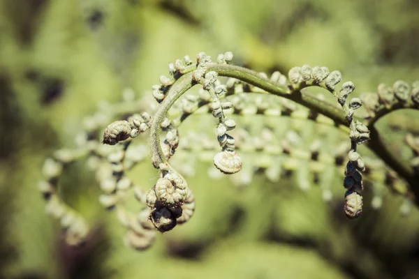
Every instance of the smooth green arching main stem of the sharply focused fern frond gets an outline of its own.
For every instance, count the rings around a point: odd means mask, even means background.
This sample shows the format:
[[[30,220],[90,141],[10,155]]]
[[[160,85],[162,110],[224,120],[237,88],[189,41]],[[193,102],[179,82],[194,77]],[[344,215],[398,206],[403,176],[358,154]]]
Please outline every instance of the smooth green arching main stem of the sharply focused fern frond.
[[[287,86],[280,86],[278,84],[272,83],[270,80],[266,80],[263,77],[259,77],[256,72],[249,70],[247,68],[242,68],[240,66],[233,65],[221,65],[221,64],[210,64],[207,67],[207,70],[214,70],[220,76],[224,77],[233,77],[242,82],[247,82],[253,86],[256,86],[260,89],[272,93],[276,96],[281,96],[289,100],[293,100],[304,107],[314,110],[324,116],[328,116],[330,119],[335,121],[335,123],[349,126],[349,123],[346,121],[344,114],[334,105],[330,105],[323,100],[318,100],[314,96],[310,96],[307,93],[301,91],[293,91]],[[175,82],[170,88],[168,95],[159,105],[159,108],[155,114],[155,118],[152,122],[152,128],[150,133],[150,142],[153,154],[153,163],[155,167],[159,167],[160,163],[168,163],[163,151],[161,150],[160,144],[160,126],[163,119],[166,117],[168,110],[175,103],[175,101],[182,96],[182,94],[191,87],[195,85],[192,79],[192,72],[184,74],[182,77]],[[399,173],[411,186],[413,193],[416,197],[419,197],[419,187],[418,181],[413,176],[413,169],[409,167],[406,163],[399,160],[399,157],[395,156],[384,144],[383,139],[378,134],[378,131],[373,125],[369,126],[371,130],[370,138],[371,140],[368,143],[368,146],[376,155],[381,158],[387,165],[392,167],[396,172]],[[418,200],[418,199],[416,199]]]

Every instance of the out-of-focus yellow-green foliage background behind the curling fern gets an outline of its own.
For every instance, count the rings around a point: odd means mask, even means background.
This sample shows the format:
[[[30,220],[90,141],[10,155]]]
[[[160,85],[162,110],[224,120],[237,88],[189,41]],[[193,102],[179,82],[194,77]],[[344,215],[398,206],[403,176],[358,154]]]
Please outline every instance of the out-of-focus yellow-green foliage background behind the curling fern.
[[[127,87],[149,93],[185,54],[232,51],[234,63],[266,73],[328,66],[359,94],[418,80],[418,15],[415,0],[1,0],[0,278],[419,278],[418,210],[402,217],[402,199],[386,193],[374,211],[367,190],[362,218],[348,221],[340,177],[325,203],[318,186],[304,193],[293,179],[256,175],[237,189],[196,163],[196,215],[145,252],[124,246],[84,162],[61,183],[93,227],[82,248],[64,244],[36,189],[45,157],[74,145],[98,103]],[[418,117],[409,113],[396,116]],[[389,121],[380,128],[398,148],[404,133]],[[188,119],[181,131],[193,127]],[[330,137],[332,151],[340,137]],[[152,187],[151,164],[134,170],[138,185]]]

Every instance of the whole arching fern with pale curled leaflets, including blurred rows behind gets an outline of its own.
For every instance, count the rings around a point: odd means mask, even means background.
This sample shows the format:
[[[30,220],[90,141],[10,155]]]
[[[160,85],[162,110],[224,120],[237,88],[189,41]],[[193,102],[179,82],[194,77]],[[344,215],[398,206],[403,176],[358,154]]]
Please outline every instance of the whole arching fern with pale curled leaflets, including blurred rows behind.
[[[88,225],[78,212],[64,204],[59,197],[58,181],[64,165],[84,157],[88,158],[87,163],[96,172],[104,192],[99,201],[105,208],[117,211],[119,221],[126,227],[124,241],[131,248],[148,248],[154,241],[156,230],[167,232],[193,216],[195,198],[191,188],[177,171],[177,165],[169,162],[179,146],[178,128],[192,114],[209,113],[214,116],[218,144],[213,144],[215,141],[209,139],[200,138],[197,142],[196,138],[186,137],[184,140],[191,144],[184,147],[184,151],[214,152],[213,163],[223,174],[235,174],[245,167],[240,157],[242,151],[262,151],[272,157],[286,155],[316,163],[309,170],[278,161],[258,166],[266,169],[268,179],[274,182],[279,180],[281,168],[297,169],[300,175],[308,171],[328,174],[324,171],[325,165],[341,165],[344,169],[344,213],[348,218],[358,218],[362,213],[361,193],[365,179],[372,181],[373,185],[386,184],[402,195],[406,204],[418,204],[419,138],[406,135],[413,158],[410,162],[401,161],[385,144],[375,123],[395,110],[418,110],[419,82],[410,85],[397,81],[391,87],[380,84],[376,93],[369,93],[362,98],[348,98],[355,86],[353,82],[338,85],[342,79],[338,70],[330,72],[326,67],[304,65],[289,70],[288,77],[279,72],[267,77],[265,73],[233,66],[232,59],[231,52],[219,54],[216,61],[200,52],[196,62],[185,56],[182,60],[170,63],[170,76],[162,75],[160,84],[152,86],[152,95],[158,105],[147,100],[134,100],[128,92],[122,103],[105,108],[105,117],[91,116],[87,119],[75,149],[60,149],[45,160],[42,169],[45,180],[39,183],[39,189],[45,198],[47,213],[60,220],[68,243],[82,243],[87,236]],[[221,82],[220,77],[228,77],[226,84]],[[193,86],[200,87],[198,94],[186,95]],[[312,86],[332,93],[338,105],[326,103],[322,96],[313,96],[307,90],[302,91]],[[248,99],[247,93],[257,93],[259,97]],[[266,101],[270,95],[280,98],[276,98],[277,102]],[[355,116],[355,111],[362,105],[367,114]],[[139,107],[144,111],[138,112]],[[206,108],[200,110],[203,107]],[[171,116],[169,110],[176,110],[177,114]],[[321,142],[314,142],[308,151],[295,149],[293,142],[297,135],[292,133],[292,129],[281,141],[276,139],[269,127],[263,130],[262,137],[254,140],[249,140],[251,135],[246,128],[237,128],[239,137],[236,136],[236,139],[230,135],[230,131],[236,128],[232,116],[256,114],[316,121],[344,130],[349,140],[330,155],[321,154]],[[110,119],[126,115],[131,116],[106,126]],[[95,135],[101,133],[104,127],[103,139],[96,140]],[[126,172],[149,158],[149,151],[144,144],[131,144],[135,137],[147,130],[151,160],[159,171],[159,179],[148,192],[144,192],[134,185]],[[166,133],[163,142],[161,131]],[[193,143],[194,140],[196,143]],[[113,149],[104,149],[103,144],[115,146]],[[381,160],[362,158],[357,151],[359,144],[366,144]],[[330,181],[330,174],[328,176]],[[323,183],[328,183],[327,179]],[[304,183],[302,185],[304,187]],[[137,214],[128,212],[122,203],[128,190],[132,190],[142,204],[142,210]],[[323,197],[330,199],[327,187],[323,190]],[[372,206],[381,206],[379,195],[374,197]]]

